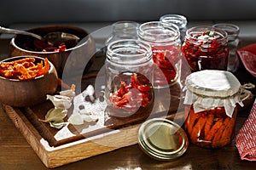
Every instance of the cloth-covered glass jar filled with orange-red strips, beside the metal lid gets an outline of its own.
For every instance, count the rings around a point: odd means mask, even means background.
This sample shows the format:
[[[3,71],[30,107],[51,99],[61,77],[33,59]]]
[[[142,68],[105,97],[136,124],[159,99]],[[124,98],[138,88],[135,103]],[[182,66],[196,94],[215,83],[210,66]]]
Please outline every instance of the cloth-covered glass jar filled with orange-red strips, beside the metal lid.
[[[205,70],[186,79],[184,129],[189,141],[201,147],[230,144],[236,125],[241,84],[230,71]]]

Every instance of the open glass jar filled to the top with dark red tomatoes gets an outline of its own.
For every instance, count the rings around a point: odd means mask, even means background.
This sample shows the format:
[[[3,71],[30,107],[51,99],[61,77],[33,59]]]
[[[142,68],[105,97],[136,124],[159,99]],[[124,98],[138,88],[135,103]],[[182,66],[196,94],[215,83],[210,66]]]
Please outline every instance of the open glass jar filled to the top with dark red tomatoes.
[[[212,26],[195,26],[186,32],[182,47],[192,72],[227,70],[228,34]]]

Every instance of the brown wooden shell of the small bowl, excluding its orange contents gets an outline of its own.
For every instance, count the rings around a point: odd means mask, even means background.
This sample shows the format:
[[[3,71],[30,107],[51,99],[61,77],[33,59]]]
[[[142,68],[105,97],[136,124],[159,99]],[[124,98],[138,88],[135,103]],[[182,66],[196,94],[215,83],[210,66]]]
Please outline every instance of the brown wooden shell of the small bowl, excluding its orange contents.
[[[17,59],[33,57],[36,62],[44,58],[37,56],[17,56],[3,59],[9,62]],[[49,61],[49,72],[31,80],[8,79],[0,76],[0,103],[15,107],[38,105],[46,100],[46,94],[55,94],[58,76],[55,66]]]

